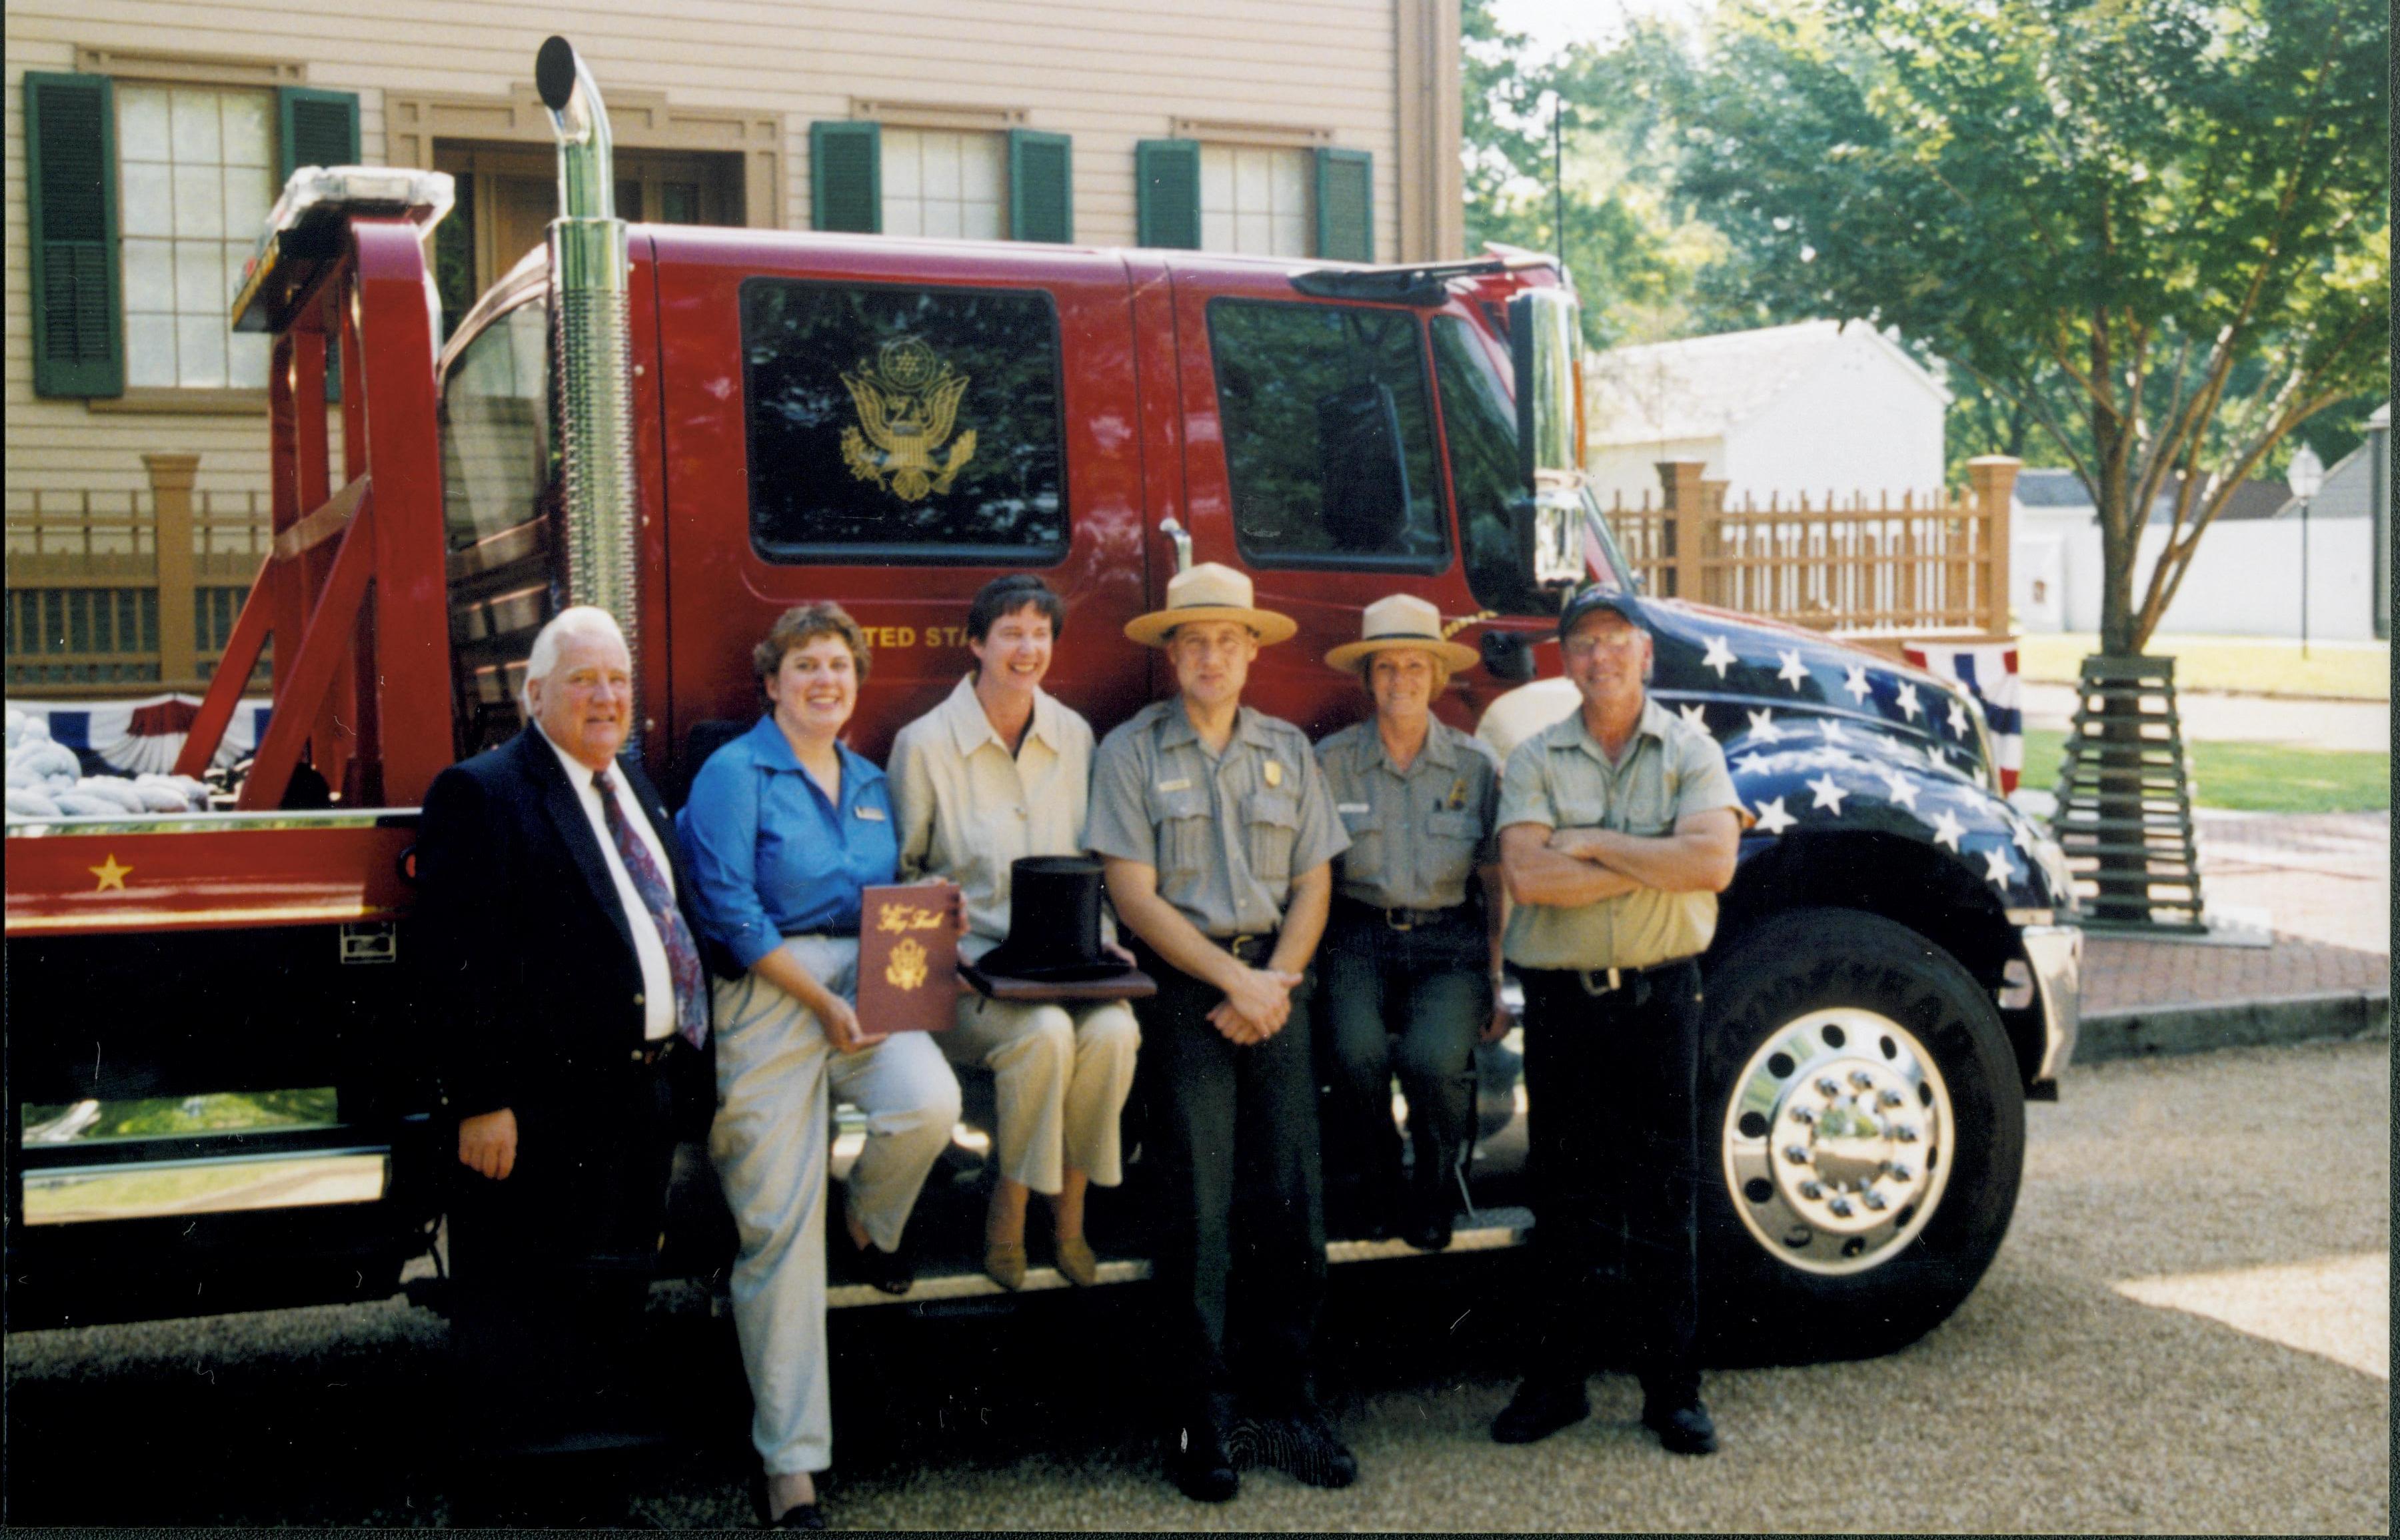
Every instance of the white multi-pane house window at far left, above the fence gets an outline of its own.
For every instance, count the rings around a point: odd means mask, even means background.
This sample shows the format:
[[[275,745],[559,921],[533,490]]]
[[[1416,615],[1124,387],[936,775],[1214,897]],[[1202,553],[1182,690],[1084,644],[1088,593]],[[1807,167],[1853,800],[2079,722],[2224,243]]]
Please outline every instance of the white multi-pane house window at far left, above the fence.
[[[276,197],[271,91],[118,82],[125,384],[264,389],[271,338],[233,333]]]

